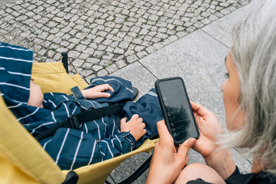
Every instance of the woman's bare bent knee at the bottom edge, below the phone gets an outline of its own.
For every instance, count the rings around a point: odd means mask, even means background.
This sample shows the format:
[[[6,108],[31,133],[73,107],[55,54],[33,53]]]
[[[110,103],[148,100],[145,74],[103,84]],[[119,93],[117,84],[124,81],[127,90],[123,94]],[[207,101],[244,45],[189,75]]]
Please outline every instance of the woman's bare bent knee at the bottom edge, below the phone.
[[[210,183],[225,183],[224,179],[208,165],[203,163],[191,163],[180,172],[175,184],[187,183],[188,181],[196,179],[202,179]]]

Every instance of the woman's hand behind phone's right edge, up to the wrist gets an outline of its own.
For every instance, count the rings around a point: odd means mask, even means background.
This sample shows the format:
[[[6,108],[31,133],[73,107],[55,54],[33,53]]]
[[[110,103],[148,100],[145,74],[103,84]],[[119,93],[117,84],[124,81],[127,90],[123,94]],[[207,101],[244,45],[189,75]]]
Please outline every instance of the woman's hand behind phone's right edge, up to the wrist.
[[[218,147],[215,142],[217,135],[222,133],[222,129],[215,115],[208,111],[207,108],[194,102],[190,102],[190,104],[199,128],[199,139],[197,139],[193,149],[206,158]]]

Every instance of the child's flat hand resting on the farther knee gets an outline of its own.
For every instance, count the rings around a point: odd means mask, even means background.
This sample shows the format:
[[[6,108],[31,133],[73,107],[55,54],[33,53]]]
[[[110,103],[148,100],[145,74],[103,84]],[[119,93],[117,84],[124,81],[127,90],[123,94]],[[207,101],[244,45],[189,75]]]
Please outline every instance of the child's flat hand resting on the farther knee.
[[[83,91],[81,91],[81,93],[85,99],[97,99],[99,97],[110,97],[110,93],[103,93],[103,91],[106,91],[106,90],[114,92],[114,90],[112,89],[112,87],[110,87],[109,84],[101,84],[99,86],[92,87],[90,89],[84,89]]]

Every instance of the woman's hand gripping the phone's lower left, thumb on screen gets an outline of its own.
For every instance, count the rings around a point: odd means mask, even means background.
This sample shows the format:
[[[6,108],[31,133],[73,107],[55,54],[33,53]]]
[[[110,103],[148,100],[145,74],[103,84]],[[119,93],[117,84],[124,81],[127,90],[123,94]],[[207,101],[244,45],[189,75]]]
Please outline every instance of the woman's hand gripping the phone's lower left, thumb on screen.
[[[188,151],[196,139],[186,140],[177,150],[164,120],[157,122],[157,130],[160,139],[155,144],[155,152],[152,156],[146,183],[173,183],[184,166],[187,165]]]

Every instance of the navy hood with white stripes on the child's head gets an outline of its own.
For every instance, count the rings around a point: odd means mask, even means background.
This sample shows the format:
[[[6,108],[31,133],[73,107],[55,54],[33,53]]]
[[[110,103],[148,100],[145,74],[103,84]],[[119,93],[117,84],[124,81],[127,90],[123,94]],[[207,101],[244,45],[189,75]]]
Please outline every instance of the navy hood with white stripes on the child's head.
[[[0,91],[5,101],[28,103],[31,71],[32,50],[0,42]]]

